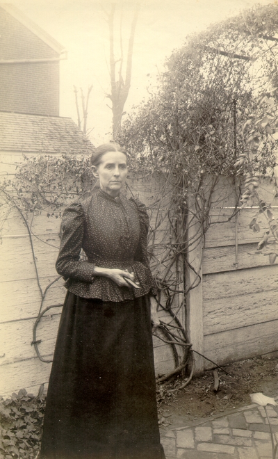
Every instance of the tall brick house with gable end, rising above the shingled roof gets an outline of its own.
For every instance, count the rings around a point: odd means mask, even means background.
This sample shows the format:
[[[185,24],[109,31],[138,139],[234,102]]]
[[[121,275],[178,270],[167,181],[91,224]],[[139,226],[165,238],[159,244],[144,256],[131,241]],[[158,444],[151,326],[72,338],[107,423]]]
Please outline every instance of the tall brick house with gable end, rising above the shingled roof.
[[[65,49],[10,3],[0,3],[0,111],[59,115]]]

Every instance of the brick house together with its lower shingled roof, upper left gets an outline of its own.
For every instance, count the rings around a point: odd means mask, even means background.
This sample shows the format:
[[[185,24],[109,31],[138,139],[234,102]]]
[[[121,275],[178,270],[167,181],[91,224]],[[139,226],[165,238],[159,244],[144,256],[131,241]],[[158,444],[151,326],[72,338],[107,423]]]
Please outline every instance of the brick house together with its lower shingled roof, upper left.
[[[10,3],[0,3],[0,30],[0,154],[90,154],[90,140],[59,117],[65,48]]]

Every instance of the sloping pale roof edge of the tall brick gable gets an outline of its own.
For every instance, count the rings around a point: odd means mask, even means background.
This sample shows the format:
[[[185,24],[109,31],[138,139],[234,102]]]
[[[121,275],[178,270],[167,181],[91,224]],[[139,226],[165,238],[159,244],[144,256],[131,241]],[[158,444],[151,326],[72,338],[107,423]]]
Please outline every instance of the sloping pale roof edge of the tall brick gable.
[[[31,19],[29,19],[22,11],[18,10],[16,6],[14,6],[12,3],[0,3],[0,7],[3,8],[3,10],[6,10],[7,13],[9,13],[11,16],[13,16],[17,21],[21,22],[24,26],[26,26],[29,31],[33,32],[35,35],[37,35],[40,40],[42,40],[44,43],[49,45],[56,53],[62,54],[65,52],[65,47],[60,45],[54,38],[51,37],[47,32],[45,32],[43,29],[40,28],[35,22],[33,22]]]

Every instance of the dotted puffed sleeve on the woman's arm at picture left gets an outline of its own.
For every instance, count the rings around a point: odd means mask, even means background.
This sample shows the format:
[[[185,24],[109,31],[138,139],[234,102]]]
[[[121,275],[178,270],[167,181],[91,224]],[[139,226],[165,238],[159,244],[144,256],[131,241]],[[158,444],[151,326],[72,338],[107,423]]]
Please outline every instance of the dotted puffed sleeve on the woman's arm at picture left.
[[[58,274],[65,279],[92,282],[94,265],[80,259],[84,235],[83,207],[78,202],[65,209],[61,224],[60,252],[56,261]]]

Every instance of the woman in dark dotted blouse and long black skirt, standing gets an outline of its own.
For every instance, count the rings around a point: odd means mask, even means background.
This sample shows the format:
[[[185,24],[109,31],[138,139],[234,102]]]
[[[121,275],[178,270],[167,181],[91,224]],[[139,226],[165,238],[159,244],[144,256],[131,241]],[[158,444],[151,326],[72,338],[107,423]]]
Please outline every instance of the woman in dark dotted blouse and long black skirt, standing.
[[[40,459],[164,459],[156,412],[145,206],[120,198],[126,152],[92,156],[100,189],[64,212],[56,268],[67,280]],[[80,259],[81,249],[87,261]],[[131,287],[129,280],[138,287]]]

